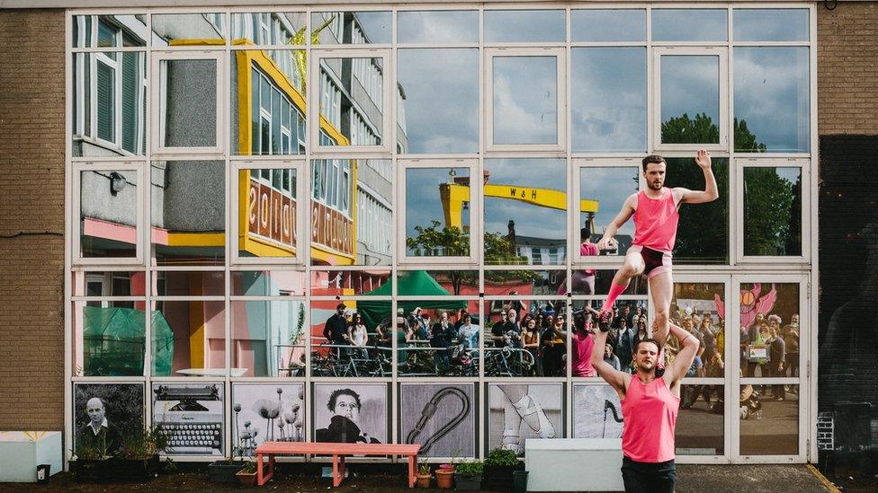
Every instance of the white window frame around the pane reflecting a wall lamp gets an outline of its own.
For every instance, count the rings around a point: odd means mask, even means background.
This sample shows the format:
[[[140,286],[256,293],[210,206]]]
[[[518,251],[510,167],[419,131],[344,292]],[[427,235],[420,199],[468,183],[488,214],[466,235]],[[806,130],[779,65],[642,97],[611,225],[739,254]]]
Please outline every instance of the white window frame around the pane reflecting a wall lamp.
[[[148,183],[147,180],[144,179],[143,169],[146,166],[145,163],[137,163],[137,162],[113,162],[113,163],[94,163],[94,162],[77,162],[73,163],[71,166],[72,171],[72,180],[71,180],[71,195],[72,195],[72,204],[70,208],[70,212],[76,217],[76,224],[73,225],[73,229],[70,235],[70,247],[71,247],[71,260],[73,266],[106,266],[108,264],[112,265],[124,265],[124,266],[143,266],[144,265],[144,248],[143,244],[145,241],[145,229],[143,225],[146,224],[146,219],[144,217],[144,200],[145,200],[145,192],[144,185]],[[134,257],[83,257],[82,256],[82,228],[80,225],[80,221],[82,220],[82,172],[131,172],[133,173],[138,180],[137,185],[137,226],[136,230],[136,242],[135,242],[135,254]],[[107,182],[107,189],[109,190],[110,183]]]

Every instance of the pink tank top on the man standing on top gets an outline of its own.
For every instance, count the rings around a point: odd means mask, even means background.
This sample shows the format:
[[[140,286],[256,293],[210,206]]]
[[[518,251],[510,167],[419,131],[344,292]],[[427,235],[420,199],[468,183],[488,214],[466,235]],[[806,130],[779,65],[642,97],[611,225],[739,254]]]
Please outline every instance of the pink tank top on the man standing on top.
[[[667,187],[661,192],[659,198],[649,198],[643,190],[638,192],[633,244],[670,253],[674,250],[680,213],[674,203],[674,192]]]

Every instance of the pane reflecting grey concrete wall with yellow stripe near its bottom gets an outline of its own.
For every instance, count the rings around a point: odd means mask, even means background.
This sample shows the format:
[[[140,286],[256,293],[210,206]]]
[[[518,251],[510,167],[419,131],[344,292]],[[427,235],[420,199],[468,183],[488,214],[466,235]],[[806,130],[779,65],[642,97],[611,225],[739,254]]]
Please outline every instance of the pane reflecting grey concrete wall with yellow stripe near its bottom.
[[[216,161],[150,166],[152,256],[157,265],[223,265],[225,172]]]

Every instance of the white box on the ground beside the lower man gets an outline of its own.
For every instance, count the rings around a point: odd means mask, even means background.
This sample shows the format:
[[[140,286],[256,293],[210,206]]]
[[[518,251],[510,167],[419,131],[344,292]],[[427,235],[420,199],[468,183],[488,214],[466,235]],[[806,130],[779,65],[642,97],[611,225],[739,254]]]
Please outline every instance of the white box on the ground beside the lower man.
[[[528,438],[528,491],[624,491],[621,438]]]

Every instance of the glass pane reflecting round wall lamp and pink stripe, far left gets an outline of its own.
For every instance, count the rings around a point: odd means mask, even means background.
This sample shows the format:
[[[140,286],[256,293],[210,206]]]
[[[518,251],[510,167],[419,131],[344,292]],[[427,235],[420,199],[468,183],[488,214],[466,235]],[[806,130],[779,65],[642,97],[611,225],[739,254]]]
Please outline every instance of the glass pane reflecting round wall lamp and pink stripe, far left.
[[[82,258],[133,258],[138,243],[138,173],[79,173],[79,254]]]

